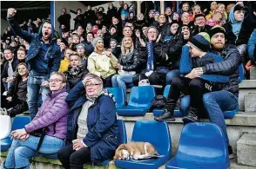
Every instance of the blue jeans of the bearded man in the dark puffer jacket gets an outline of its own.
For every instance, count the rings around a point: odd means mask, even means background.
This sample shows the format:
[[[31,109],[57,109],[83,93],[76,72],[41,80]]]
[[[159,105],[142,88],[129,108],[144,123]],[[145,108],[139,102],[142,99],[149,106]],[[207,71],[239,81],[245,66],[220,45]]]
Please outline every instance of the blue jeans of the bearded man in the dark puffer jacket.
[[[229,146],[223,112],[235,110],[239,106],[238,98],[226,90],[220,90],[204,94],[203,101],[210,121],[221,128],[226,137],[227,146]]]

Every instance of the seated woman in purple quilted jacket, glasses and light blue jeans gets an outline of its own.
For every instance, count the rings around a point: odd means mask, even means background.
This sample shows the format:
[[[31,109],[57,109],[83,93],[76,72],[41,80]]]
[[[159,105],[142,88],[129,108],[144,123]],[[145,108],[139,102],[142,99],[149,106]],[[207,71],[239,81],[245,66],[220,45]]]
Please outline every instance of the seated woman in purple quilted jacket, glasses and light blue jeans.
[[[10,146],[4,168],[30,168],[29,159],[37,150],[39,137],[30,135],[37,129],[48,127],[39,153],[57,153],[64,147],[67,131],[68,105],[65,98],[68,95],[65,89],[66,78],[62,73],[52,73],[49,79],[51,96],[48,97],[36,117],[22,129],[11,132],[14,139]]]

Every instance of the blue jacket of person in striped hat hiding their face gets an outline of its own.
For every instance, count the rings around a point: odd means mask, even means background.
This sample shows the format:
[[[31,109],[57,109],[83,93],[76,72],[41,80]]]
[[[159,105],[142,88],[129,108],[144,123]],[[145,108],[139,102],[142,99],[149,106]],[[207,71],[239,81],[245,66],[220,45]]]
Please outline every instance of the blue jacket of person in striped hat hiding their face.
[[[205,67],[206,64],[213,62],[223,62],[223,58],[219,55],[207,52],[201,58],[192,58],[189,54],[189,47],[184,45],[182,47],[182,54],[180,59],[179,70],[181,74],[188,74],[192,71],[192,68]],[[200,77],[206,81],[222,82],[226,83],[229,81],[229,76],[226,75],[200,75]]]

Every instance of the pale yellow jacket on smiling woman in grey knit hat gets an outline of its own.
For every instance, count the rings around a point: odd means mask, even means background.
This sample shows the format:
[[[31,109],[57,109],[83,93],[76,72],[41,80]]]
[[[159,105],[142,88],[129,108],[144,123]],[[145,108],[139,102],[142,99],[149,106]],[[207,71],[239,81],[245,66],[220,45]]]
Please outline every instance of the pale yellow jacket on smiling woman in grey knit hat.
[[[90,73],[106,79],[108,76],[117,73],[116,68],[114,68],[116,63],[118,63],[118,59],[114,55],[108,57],[105,51],[102,54],[93,52],[88,57],[87,69]]]

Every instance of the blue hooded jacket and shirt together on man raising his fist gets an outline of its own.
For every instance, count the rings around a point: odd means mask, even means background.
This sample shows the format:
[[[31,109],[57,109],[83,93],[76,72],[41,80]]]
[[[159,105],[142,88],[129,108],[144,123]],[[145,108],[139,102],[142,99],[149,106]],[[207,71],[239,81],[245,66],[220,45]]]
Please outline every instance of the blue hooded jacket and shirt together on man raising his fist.
[[[7,18],[7,21],[17,36],[30,43],[30,49],[26,57],[28,69],[34,70],[38,75],[47,76],[50,76],[52,72],[57,72],[61,61],[61,51],[57,43],[53,41],[53,25],[51,24],[50,43],[44,44],[42,40],[42,27],[44,23],[42,23],[37,34],[30,34],[28,31],[21,29],[14,18]]]

